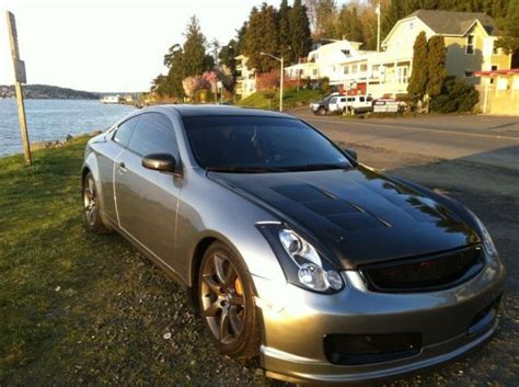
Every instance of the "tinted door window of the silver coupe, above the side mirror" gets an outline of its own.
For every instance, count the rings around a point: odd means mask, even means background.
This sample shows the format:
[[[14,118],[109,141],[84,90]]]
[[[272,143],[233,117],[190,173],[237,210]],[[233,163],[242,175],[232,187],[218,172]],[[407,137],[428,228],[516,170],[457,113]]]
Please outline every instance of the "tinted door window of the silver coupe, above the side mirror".
[[[140,116],[128,148],[140,156],[171,153],[176,157],[178,153],[173,126],[161,113],[145,113]]]

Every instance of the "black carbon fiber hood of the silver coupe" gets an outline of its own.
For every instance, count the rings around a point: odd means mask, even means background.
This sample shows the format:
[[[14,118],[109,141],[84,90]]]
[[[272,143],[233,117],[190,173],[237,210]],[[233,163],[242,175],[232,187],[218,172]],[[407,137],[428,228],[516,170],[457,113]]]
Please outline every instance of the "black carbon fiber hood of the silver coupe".
[[[343,269],[478,241],[446,206],[365,167],[208,175],[307,232]]]

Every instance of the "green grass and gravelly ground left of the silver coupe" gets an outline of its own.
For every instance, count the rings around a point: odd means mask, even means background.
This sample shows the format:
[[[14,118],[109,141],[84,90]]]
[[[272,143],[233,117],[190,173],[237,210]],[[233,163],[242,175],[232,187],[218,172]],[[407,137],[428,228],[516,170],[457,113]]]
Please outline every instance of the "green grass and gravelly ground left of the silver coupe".
[[[0,159],[0,386],[277,385],[215,353],[181,288],[123,238],[85,232],[85,141],[31,169]]]

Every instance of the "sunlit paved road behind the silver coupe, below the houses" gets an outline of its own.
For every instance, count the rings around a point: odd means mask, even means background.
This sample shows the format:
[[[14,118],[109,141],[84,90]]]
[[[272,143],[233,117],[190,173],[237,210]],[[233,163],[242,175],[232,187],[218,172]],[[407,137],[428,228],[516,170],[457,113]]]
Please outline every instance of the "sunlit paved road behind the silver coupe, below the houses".
[[[519,118],[432,116],[419,118],[320,117],[295,114],[334,139],[447,160],[464,159],[519,172]]]

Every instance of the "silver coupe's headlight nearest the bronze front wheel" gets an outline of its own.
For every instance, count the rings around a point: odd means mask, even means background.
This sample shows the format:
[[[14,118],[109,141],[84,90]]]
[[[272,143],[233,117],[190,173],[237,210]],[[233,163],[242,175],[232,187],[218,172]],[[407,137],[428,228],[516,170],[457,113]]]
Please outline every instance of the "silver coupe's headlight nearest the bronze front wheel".
[[[288,282],[321,293],[344,287],[341,274],[296,231],[280,224],[258,224],[257,227],[273,247]]]

